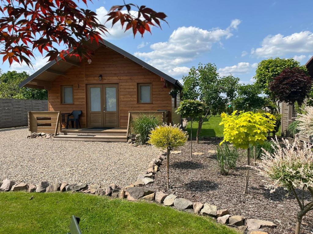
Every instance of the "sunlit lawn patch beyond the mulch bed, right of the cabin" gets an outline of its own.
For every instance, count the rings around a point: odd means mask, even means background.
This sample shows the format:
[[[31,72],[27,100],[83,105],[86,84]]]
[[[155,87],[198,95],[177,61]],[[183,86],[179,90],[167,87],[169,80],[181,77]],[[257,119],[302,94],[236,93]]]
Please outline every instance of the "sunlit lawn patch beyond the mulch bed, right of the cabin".
[[[196,138],[198,129],[198,119],[192,122],[192,139]],[[221,116],[212,116],[208,121],[203,122],[201,129],[201,137],[222,137],[223,136],[223,125],[219,126],[221,122]],[[187,124],[187,131],[190,136],[190,122]]]

